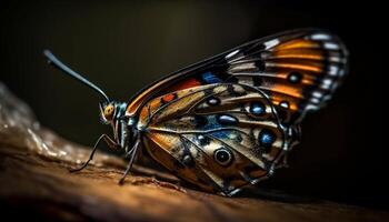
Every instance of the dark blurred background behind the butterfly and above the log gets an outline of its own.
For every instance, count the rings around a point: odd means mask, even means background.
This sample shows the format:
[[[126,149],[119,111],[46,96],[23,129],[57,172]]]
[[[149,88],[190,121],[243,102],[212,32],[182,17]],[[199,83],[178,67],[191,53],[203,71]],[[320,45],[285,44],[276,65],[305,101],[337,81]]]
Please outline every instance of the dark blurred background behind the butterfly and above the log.
[[[388,209],[383,9],[371,1],[2,3],[0,80],[43,125],[90,145],[111,133],[99,124],[99,98],[47,65],[46,48],[127,101],[169,72],[246,41],[295,28],[329,29],[350,51],[350,74],[326,109],[306,118],[291,168],[262,186]]]

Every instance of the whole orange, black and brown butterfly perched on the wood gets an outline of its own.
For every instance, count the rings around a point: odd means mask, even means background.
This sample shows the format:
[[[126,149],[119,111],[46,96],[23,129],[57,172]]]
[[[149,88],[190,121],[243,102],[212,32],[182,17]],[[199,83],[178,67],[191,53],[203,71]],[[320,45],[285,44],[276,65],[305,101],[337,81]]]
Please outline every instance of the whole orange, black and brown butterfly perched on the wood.
[[[82,75],[44,56],[60,70],[102,95],[101,119],[129,163],[141,149],[182,180],[222,195],[268,179],[299,143],[308,112],[330,100],[347,73],[341,40],[319,29],[291,30],[258,39],[181,69],[133,95],[110,100]]]

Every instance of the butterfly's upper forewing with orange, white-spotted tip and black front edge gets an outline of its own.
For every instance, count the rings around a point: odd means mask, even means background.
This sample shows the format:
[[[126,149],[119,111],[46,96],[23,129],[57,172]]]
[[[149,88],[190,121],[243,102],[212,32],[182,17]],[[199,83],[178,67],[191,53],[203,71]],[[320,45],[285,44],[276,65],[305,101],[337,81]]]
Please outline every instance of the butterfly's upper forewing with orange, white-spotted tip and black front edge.
[[[285,122],[318,110],[341,83],[348,52],[323,30],[302,29],[258,39],[156,81],[131,98],[127,115],[137,115],[149,100],[172,91],[215,82],[240,82],[267,91],[287,110]],[[295,118],[291,118],[295,115]]]

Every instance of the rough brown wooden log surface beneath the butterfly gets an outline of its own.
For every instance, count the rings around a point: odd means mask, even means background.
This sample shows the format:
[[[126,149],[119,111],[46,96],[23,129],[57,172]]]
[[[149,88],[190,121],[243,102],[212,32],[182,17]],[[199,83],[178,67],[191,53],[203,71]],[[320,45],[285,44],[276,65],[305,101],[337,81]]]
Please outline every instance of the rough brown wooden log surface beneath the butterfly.
[[[180,186],[173,175],[98,153],[42,128],[0,83],[0,204],[13,218],[49,221],[388,221],[389,213],[333,202],[222,198]]]

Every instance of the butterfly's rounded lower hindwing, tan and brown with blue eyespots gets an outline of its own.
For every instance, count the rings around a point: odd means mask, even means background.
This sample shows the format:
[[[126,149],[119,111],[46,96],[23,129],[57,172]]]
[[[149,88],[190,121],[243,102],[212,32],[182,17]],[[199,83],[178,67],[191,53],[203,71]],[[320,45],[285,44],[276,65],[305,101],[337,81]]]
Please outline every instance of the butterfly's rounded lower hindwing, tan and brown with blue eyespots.
[[[171,100],[161,102],[166,97]],[[272,105],[255,88],[190,88],[151,100],[141,113],[151,155],[168,155],[161,164],[192,183],[211,184],[208,190],[230,194],[256,183],[282,153],[285,135]]]

